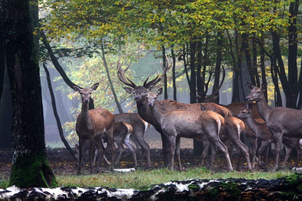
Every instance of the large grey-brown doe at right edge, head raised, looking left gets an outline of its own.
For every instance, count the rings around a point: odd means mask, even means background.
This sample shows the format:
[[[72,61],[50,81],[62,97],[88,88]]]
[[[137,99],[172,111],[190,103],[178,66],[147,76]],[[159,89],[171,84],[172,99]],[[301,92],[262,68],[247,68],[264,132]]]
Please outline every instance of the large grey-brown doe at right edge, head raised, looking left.
[[[284,107],[272,108],[264,98],[263,93],[266,89],[264,83],[262,83],[261,87],[253,86],[250,83],[247,83],[247,85],[251,89],[251,94],[246,97],[246,100],[256,102],[259,115],[275,137],[276,157],[274,170],[276,170],[280,165],[279,155],[282,137],[302,138],[302,111]]]

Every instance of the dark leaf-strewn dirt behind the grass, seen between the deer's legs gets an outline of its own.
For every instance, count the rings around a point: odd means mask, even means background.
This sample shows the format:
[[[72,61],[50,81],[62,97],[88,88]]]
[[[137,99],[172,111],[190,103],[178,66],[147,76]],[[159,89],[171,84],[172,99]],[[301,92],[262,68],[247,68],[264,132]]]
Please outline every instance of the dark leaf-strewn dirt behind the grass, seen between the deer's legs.
[[[66,148],[56,148],[56,149],[46,149],[48,162],[50,163],[54,174],[66,174],[66,173],[77,173],[77,167],[75,167],[75,161],[73,157],[69,154]],[[119,153],[119,149],[116,148],[116,157]],[[140,169],[146,168],[146,157],[144,161],[140,161],[140,149],[136,149],[137,160]],[[220,152],[218,152],[220,153]],[[272,156],[272,155],[271,155]],[[163,168],[163,158],[162,158],[162,150],[161,149],[151,149],[150,150],[151,164],[152,168]],[[11,169],[11,150],[10,149],[2,149],[0,150],[0,173],[2,176],[8,178]],[[284,155],[281,155],[281,160],[284,159]],[[293,166],[296,158],[290,158],[287,166]],[[200,156],[195,156],[193,149],[182,149],[181,155],[182,167],[194,168],[197,167],[200,162]],[[237,153],[236,149],[233,150],[233,167],[236,168],[237,165]],[[273,157],[269,157],[268,159],[269,166],[274,165]],[[176,164],[176,162],[175,162]],[[122,159],[118,164],[119,168],[133,168],[133,156],[129,149],[126,149]],[[176,166],[175,166],[176,167]],[[101,170],[106,170],[108,168],[101,165]],[[86,165],[84,171],[87,171],[88,174],[89,166]],[[214,163],[214,171],[227,171],[226,160],[223,154],[218,154]],[[246,159],[242,159],[241,171],[247,171]]]

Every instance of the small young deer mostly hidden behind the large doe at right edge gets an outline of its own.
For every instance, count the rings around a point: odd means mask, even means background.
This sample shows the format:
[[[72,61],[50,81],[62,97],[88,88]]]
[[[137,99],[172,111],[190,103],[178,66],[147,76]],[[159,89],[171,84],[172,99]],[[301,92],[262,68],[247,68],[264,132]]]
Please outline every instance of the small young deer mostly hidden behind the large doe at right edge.
[[[254,119],[252,115],[252,108],[253,107],[251,103],[246,103],[245,109],[238,112],[235,117],[245,119],[249,128],[252,130],[252,132],[256,134],[257,139],[261,141],[261,146],[258,149],[258,166],[259,168],[264,168],[265,170],[267,170],[268,145],[269,143],[275,143],[275,137],[270,133],[265,122],[259,123]],[[295,167],[298,167],[302,155],[302,149],[299,145],[299,139],[283,137],[283,145],[286,149],[286,156],[282,164],[282,168],[284,168],[292,148],[296,149],[298,152],[298,158],[295,164]],[[264,167],[261,164],[261,156],[263,153],[265,159]]]

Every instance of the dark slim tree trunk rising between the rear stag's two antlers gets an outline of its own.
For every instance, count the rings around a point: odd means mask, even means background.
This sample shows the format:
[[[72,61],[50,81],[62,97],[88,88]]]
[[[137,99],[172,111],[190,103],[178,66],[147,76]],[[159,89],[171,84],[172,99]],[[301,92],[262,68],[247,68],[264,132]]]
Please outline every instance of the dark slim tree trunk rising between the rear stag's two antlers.
[[[222,61],[222,32],[218,31],[217,32],[217,52],[216,52],[216,66],[215,66],[215,74],[214,74],[214,85],[213,85],[213,90],[212,93],[214,93],[219,86],[219,80],[220,80],[220,68],[221,68],[221,61]],[[215,99],[215,102],[219,104],[219,92],[217,93],[217,98]]]

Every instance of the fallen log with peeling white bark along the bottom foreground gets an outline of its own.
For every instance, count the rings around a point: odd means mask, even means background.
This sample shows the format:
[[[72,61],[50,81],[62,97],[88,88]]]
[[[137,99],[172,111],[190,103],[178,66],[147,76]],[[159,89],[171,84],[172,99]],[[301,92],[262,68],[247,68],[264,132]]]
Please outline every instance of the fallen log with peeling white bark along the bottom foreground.
[[[265,180],[193,179],[137,189],[108,187],[0,189],[0,200],[302,200],[302,174]]]

